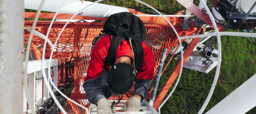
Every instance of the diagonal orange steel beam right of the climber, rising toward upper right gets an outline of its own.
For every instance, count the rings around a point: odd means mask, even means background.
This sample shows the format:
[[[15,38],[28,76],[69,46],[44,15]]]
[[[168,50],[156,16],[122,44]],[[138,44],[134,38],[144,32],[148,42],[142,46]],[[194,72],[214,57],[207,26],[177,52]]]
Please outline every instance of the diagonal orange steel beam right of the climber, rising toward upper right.
[[[193,49],[195,48],[197,42],[199,42],[200,38],[194,38],[187,51],[185,51],[185,53],[183,54],[183,65],[185,64],[185,62],[188,60],[190,54],[192,53]],[[176,66],[176,68],[173,70],[171,76],[169,77],[169,79],[167,80],[165,86],[162,88],[161,92],[159,93],[159,95],[156,97],[155,103],[153,105],[153,108],[157,109],[159,107],[159,105],[161,104],[162,100],[164,99],[164,97],[166,96],[167,92],[169,91],[169,89],[171,88],[172,83],[174,82],[174,80],[177,78],[177,76],[180,73],[180,67],[181,67],[181,60],[179,61],[178,65]]]

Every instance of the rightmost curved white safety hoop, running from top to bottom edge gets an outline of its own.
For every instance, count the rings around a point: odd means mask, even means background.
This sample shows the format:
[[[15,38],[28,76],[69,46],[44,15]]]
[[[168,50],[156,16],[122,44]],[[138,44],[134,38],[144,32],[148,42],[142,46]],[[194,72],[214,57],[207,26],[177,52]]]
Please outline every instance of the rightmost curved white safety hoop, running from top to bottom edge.
[[[217,68],[216,68],[216,72],[215,72],[215,76],[214,76],[214,80],[213,80],[213,84],[212,84],[212,87],[211,87],[211,90],[207,96],[207,98],[205,99],[205,102],[203,104],[203,106],[201,107],[201,109],[199,110],[198,113],[203,113],[204,109],[206,108],[207,104],[209,103],[212,95],[213,95],[213,91],[215,89],[215,86],[217,84],[217,80],[218,80],[218,76],[219,76],[219,70],[220,70],[220,63],[222,61],[222,44],[221,44],[221,41],[220,41],[220,34],[219,34],[219,30],[218,30],[218,27],[216,25],[216,22],[213,18],[213,15],[210,11],[210,9],[207,7],[207,5],[205,4],[205,2],[203,0],[200,0],[200,2],[202,2],[202,5],[204,6],[204,8],[206,9],[212,23],[213,23],[213,26],[214,26],[214,30],[216,32],[216,36],[217,36],[217,43],[218,43],[218,61],[217,61]]]

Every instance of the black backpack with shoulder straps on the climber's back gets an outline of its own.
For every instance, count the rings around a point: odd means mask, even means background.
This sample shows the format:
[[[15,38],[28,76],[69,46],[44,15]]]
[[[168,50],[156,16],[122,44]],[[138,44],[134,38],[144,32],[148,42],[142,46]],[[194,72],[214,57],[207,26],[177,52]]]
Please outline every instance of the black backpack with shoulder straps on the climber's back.
[[[141,19],[130,12],[115,13],[107,18],[103,26],[103,31],[101,32],[104,34],[96,37],[92,41],[92,47],[103,36],[113,35],[112,40],[110,37],[110,47],[104,65],[112,66],[114,64],[115,52],[123,39],[129,42],[129,38],[132,38],[135,67],[136,69],[142,67],[144,52],[141,42],[146,39],[147,34]]]

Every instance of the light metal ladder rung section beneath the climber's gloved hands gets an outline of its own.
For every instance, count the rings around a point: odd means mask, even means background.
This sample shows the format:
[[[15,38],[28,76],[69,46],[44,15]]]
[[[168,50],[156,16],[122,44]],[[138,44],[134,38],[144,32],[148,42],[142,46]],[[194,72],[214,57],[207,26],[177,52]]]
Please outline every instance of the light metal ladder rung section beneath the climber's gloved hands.
[[[109,102],[113,103],[118,102],[118,100],[109,100]],[[121,100],[120,103],[115,107],[115,109],[119,112],[115,112],[115,114],[158,114],[158,112],[143,99],[141,102],[141,110],[142,111],[131,111],[131,112],[122,112],[120,110],[123,110],[123,105],[127,100]],[[97,114],[97,106],[94,104],[90,104],[89,107],[89,114]]]

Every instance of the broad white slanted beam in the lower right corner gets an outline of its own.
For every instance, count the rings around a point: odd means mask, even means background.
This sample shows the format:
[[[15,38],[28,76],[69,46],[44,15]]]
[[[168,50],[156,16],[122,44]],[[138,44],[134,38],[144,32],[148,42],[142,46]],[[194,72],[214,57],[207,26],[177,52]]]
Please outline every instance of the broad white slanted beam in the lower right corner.
[[[256,106],[256,89],[254,87],[256,87],[256,74],[206,113],[246,113]]]

